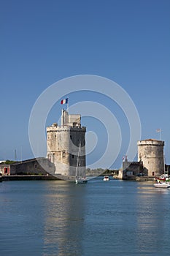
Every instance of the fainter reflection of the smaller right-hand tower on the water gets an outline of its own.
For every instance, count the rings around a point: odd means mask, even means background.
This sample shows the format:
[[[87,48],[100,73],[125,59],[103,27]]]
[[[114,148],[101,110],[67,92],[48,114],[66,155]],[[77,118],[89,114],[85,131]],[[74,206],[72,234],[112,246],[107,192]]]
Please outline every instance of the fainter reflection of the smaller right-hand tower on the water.
[[[161,253],[169,244],[165,225],[168,194],[168,189],[155,189],[152,184],[142,184],[138,187],[136,244],[141,252]]]

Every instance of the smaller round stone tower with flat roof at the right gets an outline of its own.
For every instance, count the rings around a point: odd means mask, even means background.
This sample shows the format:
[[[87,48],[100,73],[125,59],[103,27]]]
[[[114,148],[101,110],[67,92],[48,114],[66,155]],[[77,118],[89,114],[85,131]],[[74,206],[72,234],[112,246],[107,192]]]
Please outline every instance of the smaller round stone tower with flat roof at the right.
[[[164,157],[162,140],[139,140],[138,161],[143,163],[148,176],[161,176],[164,173]]]

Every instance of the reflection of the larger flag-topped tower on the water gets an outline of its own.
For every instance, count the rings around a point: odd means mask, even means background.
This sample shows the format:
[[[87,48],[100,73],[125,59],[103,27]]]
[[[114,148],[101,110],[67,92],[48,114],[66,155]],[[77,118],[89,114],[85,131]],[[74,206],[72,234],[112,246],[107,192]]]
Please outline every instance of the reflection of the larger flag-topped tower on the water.
[[[85,186],[66,181],[48,184],[45,198],[44,255],[83,255],[82,233],[85,212]]]

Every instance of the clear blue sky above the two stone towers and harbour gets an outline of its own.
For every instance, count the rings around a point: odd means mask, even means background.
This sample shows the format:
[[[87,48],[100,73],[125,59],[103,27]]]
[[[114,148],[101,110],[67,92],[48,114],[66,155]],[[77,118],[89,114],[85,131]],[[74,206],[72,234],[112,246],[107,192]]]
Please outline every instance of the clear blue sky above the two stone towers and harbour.
[[[170,163],[170,1],[169,0],[7,0],[0,3],[0,159],[34,157],[28,138],[31,109],[42,92],[73,75],[99,75],[118,83],[133,99],[142,124],[142,139],[165,140]],[[81,99],[102,102],[97,94],[69,95],[69,105]],[[128,144],[127,120],[114,103],[123,133],[119,167]],[[47,125],[58,119],[60,102],[51,110]],[[90,119],[82,118],[87,129]],[[127,128],[127,129],[126,129]],[[101,154],[103,128],[98,129]],[[22,150],[21,150],[22,148]],[[98,153],[99,152],[99,153]]]

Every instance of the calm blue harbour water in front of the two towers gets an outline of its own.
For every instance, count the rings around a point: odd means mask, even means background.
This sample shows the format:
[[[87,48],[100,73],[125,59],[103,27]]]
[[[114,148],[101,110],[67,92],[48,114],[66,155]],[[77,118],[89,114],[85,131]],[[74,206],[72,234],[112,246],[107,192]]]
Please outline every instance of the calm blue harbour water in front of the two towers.
[[[101,177],[0,185],[1,256],[169,255],[170,190]]]

